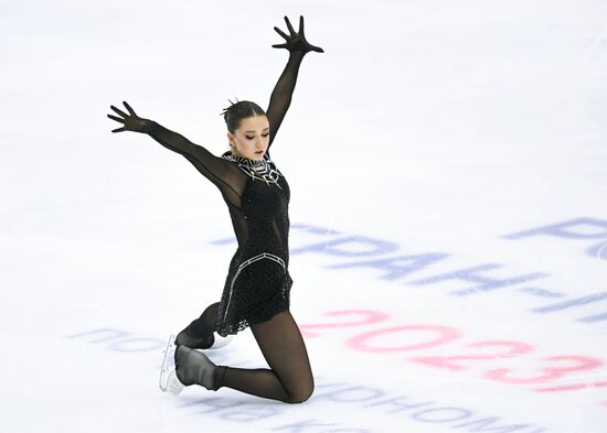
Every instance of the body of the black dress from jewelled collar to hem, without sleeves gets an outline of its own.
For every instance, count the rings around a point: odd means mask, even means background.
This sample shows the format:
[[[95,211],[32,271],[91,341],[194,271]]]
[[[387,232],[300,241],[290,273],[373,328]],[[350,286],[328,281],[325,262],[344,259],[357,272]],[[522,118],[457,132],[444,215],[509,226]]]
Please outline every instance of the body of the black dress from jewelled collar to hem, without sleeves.
[[[290,190],[268,153],[259,162],[231,152],[222,158],[247,176],[241,206],[230,206],[238,249],[230,262],[215,322],[217,334],[226,336],[289,307]]]

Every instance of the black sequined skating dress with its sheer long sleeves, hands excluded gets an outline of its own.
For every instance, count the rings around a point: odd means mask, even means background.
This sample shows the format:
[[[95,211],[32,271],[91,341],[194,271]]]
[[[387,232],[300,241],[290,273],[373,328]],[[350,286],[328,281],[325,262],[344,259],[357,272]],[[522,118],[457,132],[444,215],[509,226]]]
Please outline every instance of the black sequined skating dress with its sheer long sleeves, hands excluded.
[[[302,58],[300,52],[290,53],[271,93],[266,110],[270,138],[262,160],[236,156],[230,151],[215,156],[157,122],[148,132],[190,161],[217,186],[227,204],[238,248],[230,262],[215,322],[215,331],[224,337],[289,308],[290,191],[270,159],[269,147],[290,106]]]

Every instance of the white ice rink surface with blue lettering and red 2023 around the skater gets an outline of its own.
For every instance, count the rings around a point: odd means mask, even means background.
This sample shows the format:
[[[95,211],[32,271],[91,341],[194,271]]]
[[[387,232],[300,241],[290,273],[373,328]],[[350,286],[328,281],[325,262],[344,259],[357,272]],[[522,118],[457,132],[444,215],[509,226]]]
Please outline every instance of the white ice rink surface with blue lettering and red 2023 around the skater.
[[[303,404],[160,392],[221,296],[217,188],[110,105],[220,155],[266,108],[290,190]],[[607,432],[607,1],[0,1],[0,431]],[[220,365],[265,368],[251,331]]]

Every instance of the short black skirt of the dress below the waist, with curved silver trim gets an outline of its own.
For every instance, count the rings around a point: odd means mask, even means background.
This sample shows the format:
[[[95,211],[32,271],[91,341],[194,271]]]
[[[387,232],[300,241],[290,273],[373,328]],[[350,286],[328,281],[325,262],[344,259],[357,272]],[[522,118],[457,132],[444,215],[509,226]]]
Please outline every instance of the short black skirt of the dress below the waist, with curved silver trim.
[[[225,337],[289,308],[291,277],[279,256],[262,252],[242,257],[236,251],[217,310],[215,332]]]

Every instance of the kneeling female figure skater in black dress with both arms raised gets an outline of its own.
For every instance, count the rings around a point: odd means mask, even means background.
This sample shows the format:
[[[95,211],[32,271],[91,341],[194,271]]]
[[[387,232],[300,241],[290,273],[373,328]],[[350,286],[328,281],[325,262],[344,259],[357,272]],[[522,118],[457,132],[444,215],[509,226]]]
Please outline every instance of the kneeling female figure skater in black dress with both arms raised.
[[[299,18],[299,32],[295,32],[287,17],[285,21],[290,34],[275,26],[286,42],[271,46],[288,50],[289,59],[271,93],[268,109],[264,112],[247,100],[230,101],[231,106],[221,115],[232,149],[221,158],[153,120],[138,117],[126,101],[123,104],[128,113],[110,106],[118,116],[107,115],[123,123],[111,132],[149,134],[183,155],[217,186],[238,241],[221,301],[209,305],[177,338],[169,338],[160,388],[174,396],[187,386],[200,385],[213,391],[227,387],[262,398],[301,403],[313,392],[306,345],[289,311],[290,191],[270,159],[269,148],[290,106],[303,56],[310,51],[324,51],[306,41],[303,17]],[[251,327],[269,369],[217,366],[196,350],[222,346],[246,327]]]

